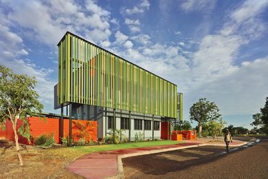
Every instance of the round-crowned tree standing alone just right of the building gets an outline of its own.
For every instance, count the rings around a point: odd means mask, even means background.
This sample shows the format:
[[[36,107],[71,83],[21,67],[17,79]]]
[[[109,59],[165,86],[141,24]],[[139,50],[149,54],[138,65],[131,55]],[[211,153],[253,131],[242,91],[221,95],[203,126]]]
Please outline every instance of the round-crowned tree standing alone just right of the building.
[[[195,120],[199,125],[199,134],[202,133],[202,125],[210,120],[216,120],[221,116],[219,108],[214,102],[207,101],[206,98],[201,98],[197,103],[190,107],[190,120]]]

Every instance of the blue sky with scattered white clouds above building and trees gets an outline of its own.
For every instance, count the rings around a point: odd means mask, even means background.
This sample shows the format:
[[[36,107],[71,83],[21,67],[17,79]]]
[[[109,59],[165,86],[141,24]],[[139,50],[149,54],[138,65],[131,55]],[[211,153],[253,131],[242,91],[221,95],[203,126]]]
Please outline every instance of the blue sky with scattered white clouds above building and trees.
[[[0,63],[36,76],[45,112],[66,31],[176,83],[185,120],[205,97],[250,128],[268,96],[268,0],[0,0],[0,17]]]

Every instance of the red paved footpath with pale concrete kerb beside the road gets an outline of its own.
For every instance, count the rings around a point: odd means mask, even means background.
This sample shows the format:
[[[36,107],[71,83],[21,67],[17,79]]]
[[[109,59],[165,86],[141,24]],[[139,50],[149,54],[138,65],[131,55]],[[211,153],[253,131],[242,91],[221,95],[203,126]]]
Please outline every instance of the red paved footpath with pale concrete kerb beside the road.
[[[224,143],[208,143],[208,140],[185,140],[184,142],[186,143],[118,149],[86,154],[76,159],[74,162],[71,162],[71,164],[67,166],[67,169],[85,178],[122,178],[124,171],[121,158],[198,147],[200,145],[225,145]],[[230,143],[230,147],[244,144],[244,141],[234,140],[233,143]]]

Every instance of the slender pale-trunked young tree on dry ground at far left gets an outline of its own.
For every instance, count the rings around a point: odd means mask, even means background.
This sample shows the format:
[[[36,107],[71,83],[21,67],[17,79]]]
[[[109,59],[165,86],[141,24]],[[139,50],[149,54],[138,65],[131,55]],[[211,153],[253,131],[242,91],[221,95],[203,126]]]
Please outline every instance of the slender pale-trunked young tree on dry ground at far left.
[[[35,78],[25,74],[14,74],[8,67],[0,65],[0,127],[5,127],[6,120],[12,123],[20,165],[23,165],[23,160],[19,152],[18,133],[30,141],[27,117],[34,116],[36,111],[40,113],[43,109],[43,105],[38,101],[38,94],[34,91],[35,85]],[[19,119],[23,124],[17,129]]]

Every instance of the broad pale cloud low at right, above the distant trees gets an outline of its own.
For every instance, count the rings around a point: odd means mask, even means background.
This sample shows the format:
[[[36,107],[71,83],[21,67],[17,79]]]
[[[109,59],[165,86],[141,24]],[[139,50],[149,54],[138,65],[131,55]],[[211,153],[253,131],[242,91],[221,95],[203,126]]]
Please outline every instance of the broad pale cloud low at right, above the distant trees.
[[[192,90],[189,96],[207,96],[225,115],[254,114],[268,96],[268,56],[245,62],[232,74]],[[189,101],[192,99],[189,98]],[[197,99],[196,99],[197,101]]]

